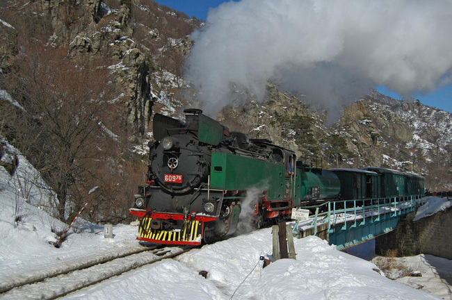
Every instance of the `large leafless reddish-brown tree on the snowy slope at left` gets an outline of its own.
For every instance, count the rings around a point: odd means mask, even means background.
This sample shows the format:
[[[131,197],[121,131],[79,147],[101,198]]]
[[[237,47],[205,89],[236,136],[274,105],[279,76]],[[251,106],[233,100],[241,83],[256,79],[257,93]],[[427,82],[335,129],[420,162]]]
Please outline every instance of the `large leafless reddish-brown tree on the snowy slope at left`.
[[[90,190],[93,160],[112,140],[108,72],[75,65],[65,49],[22,55],[8,90],[24,110],[8,124],[19,144],[58,197],[58,218],[71,219]],[[115,109],[113,109],[116,112]]]

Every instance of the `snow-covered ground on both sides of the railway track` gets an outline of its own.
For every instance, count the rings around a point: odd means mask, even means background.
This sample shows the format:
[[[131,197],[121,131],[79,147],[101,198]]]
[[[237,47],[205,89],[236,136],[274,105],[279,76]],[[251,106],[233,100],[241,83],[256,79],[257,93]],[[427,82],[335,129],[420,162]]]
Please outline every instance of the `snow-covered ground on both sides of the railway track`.
[[[19,168],[26,166],[23,156],[17,153],[17,158]],[[7,159],[8,156],[1,158]],[[27,172],[36,175],[29,167]],[[80,222],[76,224],[76,233],[71,233],[62,247],[56,249],[51,245],[56,240],[51,226],[62,224],[45,210],[29,204],[39,202],[32,199],[39,193],[30,193],[27,199],[22,197],[17,185],[20,180],[0,167],[0,284],[25,274],[42,274],[87,257],[138,247],[136,226],[114,226],[114,238],[105,239],[102,226]],[[17,215],[22,215],[20,221],[16,221]],[[193,249],[177,260],[140,267],[65,298],[440,299],[415,289],[419,287],[416,284],[407,283],[415,287],[410,288],[386,278],[373,263],[337,251],[319,238],[295,240],[295,247],[296,260],[277,260],[263,269],[259,258],[270,257],[272,249],[271,228],[267,228]],[[407,259],[413,265],[412,260],[418,258]],[[419,256],[418,260],[428,263],[432,259]],[[446,263],[450,261],[442,262]],[[427,272],[421,267],[414,269]],[[207,278],[200,271],[206,271]],[[412,278],[426,277],[423,273],[423,277]],[[430,287],[432,293],[438,286],[428,281],[419,285]]]

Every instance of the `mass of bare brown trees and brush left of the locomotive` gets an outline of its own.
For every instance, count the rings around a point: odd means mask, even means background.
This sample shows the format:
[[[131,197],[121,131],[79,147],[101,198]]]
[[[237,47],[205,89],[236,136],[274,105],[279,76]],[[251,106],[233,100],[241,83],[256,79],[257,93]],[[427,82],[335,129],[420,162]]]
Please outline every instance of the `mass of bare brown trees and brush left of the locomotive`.
[[[73,2],[58,6],[65,22],[61,31],[83,26],[78,19],[82,11],[68,7]],[[17,9],[24,4],[33,8],[33,17],[23,17],[24,10]],[[54,190],[58,201],[52,211],[58,211],[59,219],[72,221],[88,202],[84,217],[120,222],[128,217],[145,166],[129,151],[127,109],[105,67],[112,63],[106,56],[68,57],[64,39],[51,42],[52,18],[35,13],[45,10],[41,4],[19,0],[0,7],[1,19],[17,32],[13,65],[0,74],[0,89],[21,106],[0,99],[1,135]]]

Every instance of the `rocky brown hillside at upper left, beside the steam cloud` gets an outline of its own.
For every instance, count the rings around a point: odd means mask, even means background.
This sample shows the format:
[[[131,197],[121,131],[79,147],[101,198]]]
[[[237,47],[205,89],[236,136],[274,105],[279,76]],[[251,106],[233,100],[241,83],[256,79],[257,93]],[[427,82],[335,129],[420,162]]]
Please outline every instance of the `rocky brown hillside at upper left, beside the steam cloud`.
[[[132,140],[143,137],[149,130],[152,85],[156,87],[154,98],[175,103],[166,97],[175,92],[168,92],[171,88],[162,85],[168,84],[168,78],[174,82],[173,78],[180,76],[177,73],[191,45],[187,35],[200,24],[196,19],[154,2],[39,0],[26,3],[20,13],[16,9],[20,3],[11,3],[0,8],[9,17],[0,22],[0,67],[3,70],[13,63],[17,50],[14,24],[20,25],[18,30],[22,30],[26,40],[31,39],[29,35],[33,32],[26,32],[24,28],[40,22],[48,38],[45,47],[67,49],[74,64],[97,63],[111,70],[112,86],[119,90],[114,101],[124,103]],[[175,82],[181,85],[179,79]]]

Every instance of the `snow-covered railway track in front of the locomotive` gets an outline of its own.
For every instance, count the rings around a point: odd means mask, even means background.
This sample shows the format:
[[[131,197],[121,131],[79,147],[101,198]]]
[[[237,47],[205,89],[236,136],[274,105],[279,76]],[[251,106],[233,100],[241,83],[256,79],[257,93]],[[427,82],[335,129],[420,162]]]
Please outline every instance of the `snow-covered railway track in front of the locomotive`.
[[[189,250],[191,248],[149,247],[101,260],[87,260],[76,267],[3,285],[0,287],[0,299],[57,299],[138,267],[174,258]]]

